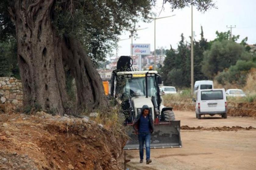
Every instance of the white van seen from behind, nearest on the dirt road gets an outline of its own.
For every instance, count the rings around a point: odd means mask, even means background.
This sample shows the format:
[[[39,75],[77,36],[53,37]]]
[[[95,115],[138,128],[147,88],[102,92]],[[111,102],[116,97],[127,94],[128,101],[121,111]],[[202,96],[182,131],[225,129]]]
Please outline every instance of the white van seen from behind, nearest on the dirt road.
[[[201,115],[215,114],[227,118],[227,99],[225,89],[205,89],[197,90],[196,99],[196,117],[201,119]]]

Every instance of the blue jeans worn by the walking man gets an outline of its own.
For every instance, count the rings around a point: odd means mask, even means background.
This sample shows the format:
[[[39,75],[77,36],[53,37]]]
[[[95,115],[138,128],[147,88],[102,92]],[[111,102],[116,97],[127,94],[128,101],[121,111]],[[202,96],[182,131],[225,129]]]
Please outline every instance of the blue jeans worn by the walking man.
[[[150,159],[150,133],[139,133],[139,144],[140,144],[140,159],[144,156],[144,143],[146,145],[146,160]]]

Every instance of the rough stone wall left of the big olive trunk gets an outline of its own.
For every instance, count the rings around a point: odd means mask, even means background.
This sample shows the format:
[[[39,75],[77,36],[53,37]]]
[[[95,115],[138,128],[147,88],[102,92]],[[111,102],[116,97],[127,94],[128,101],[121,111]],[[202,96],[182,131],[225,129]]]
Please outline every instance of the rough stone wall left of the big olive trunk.
[[[21,80],[14,77],[0,77],[0,103],[22,106],[23,92]]]

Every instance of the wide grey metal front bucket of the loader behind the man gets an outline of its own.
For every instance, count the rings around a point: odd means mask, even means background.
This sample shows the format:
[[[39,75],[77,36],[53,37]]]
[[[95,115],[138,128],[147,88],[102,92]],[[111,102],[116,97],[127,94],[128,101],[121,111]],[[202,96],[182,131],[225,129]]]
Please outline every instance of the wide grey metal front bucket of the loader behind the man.
[[[138,135],[134,134],[132,126],[126,127],[130,139],[123,149],[139,149]],[[150,148],[181,148],[180,121],[161,121],[154,126],[151,134]]]

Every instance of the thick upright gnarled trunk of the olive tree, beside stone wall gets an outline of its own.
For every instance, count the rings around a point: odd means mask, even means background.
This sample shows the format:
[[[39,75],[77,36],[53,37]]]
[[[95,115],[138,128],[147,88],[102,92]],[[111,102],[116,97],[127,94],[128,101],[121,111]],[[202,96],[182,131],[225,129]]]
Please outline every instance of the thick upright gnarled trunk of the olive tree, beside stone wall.
[[[67,101],[61,40],[52,25],[54,0],[16,0],[12,9],[16,25],[18,63],[25,106],[63,114]]]

